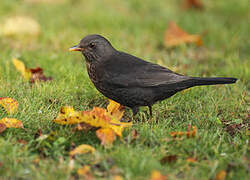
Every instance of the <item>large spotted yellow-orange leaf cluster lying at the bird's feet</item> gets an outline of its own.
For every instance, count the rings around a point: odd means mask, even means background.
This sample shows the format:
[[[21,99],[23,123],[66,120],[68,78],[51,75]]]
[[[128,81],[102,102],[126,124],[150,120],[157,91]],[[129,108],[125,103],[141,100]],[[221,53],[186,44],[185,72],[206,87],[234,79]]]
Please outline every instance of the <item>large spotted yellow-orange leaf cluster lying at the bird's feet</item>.
[[[88,126],[101,128],[96,132],[101,144],[111,145],[116,135],[122,137],[123,129],[132,125],[132,122],[120,121],[123,113],[123,107],[114,101],[110,101],[107,110],[94,107],[91,111],[75,111],[73,107],[65,106],[61,108],[60,113],[53,121],[62,125],[84,123]],[[81,126],[78,125],[78,129],[81,129]]]

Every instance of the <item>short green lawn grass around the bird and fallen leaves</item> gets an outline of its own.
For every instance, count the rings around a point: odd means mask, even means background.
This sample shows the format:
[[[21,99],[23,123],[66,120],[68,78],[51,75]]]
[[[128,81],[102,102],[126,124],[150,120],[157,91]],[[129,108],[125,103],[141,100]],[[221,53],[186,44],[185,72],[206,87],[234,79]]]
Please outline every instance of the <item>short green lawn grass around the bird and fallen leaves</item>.
[[[153,170],[170,179],[215,179],[221,170],[227,172],[227,179],[248,179],[249,2],[203,2],[204,11],[184,11],[180,1],[171,0],[65,0],[52,4],[1,0],[0,22],[12,15],[28,15],[42,30],[38,38],[0,37],[0,97],[19,102],[18,113],[12,117],[25,127],[0,135],[1,179],[78,179],[77,168],[94,160],[98,163],[92,170],[98,179],[111,178],[112,167],[125,179],[147,179]],[[187,32],[204,33],[204,46],[163,48],[163,34],[170,20]],[[117,140],[112,148],[105,149],[94,132],[75,132],[72,127],[52,123],[61,106],[88,110],[107,104],[91,84],[82,56],[67,52],[93,33],[107,37],[119,50],[178,67],[179,73],[230,76],[239,81],[178,93],[153,106],[152,122],[147,109],[141,108],[133,126],[139,138],[133,142]],[[13,57],[28,67],[42,67],[54,80],[31,86],[16,72]],[[0,109],[0,119],[6,116]],[[188,124],[197,126],[199,137],[170,137],[170,132],[185,131]],[[37,139],[39,132],[49,138]],[[125,131],[124,138],[129,133]],[[80,144],[94,146],[98,154],[76,157],[75,167],[70,169],[69,151]],[[162,164],[161,159],[169,155],[176,155],[177,161]],[[189,163],[189,157],[197,161]]]

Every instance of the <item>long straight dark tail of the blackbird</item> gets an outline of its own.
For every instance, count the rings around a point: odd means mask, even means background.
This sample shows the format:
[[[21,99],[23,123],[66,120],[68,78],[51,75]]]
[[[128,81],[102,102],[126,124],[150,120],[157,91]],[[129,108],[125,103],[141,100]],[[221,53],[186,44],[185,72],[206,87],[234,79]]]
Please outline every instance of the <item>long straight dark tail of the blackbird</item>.
[[[201,77],[192,77],[193,86],[202,86],[202,85],[215,85],[215,84],[233,84],[237,81],[236,78],[228,77],[211,77],[211,78],[201,78]]]

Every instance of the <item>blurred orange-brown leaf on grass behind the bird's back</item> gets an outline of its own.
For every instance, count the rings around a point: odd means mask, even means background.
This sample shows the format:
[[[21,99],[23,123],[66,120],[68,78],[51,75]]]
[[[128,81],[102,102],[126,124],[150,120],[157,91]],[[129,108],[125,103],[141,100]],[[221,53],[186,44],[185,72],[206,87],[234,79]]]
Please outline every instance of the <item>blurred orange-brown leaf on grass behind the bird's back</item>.
[[[190,35],[178,27],[175,22],[169,22],[168,29],[166,30],[164,37],[165,46],[173,47],[183,43],[196,43],[197,46],[201,46],[201,36]]]

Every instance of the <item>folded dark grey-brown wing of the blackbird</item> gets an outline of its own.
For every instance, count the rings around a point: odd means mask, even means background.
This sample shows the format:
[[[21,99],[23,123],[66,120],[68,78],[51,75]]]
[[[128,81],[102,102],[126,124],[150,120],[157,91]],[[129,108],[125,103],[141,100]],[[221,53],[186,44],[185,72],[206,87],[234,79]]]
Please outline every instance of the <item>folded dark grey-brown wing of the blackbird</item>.
[[[104,69],[107,83],[119,87],[163,86],[188,79],[165,67],[121,52],[109,58]]]

